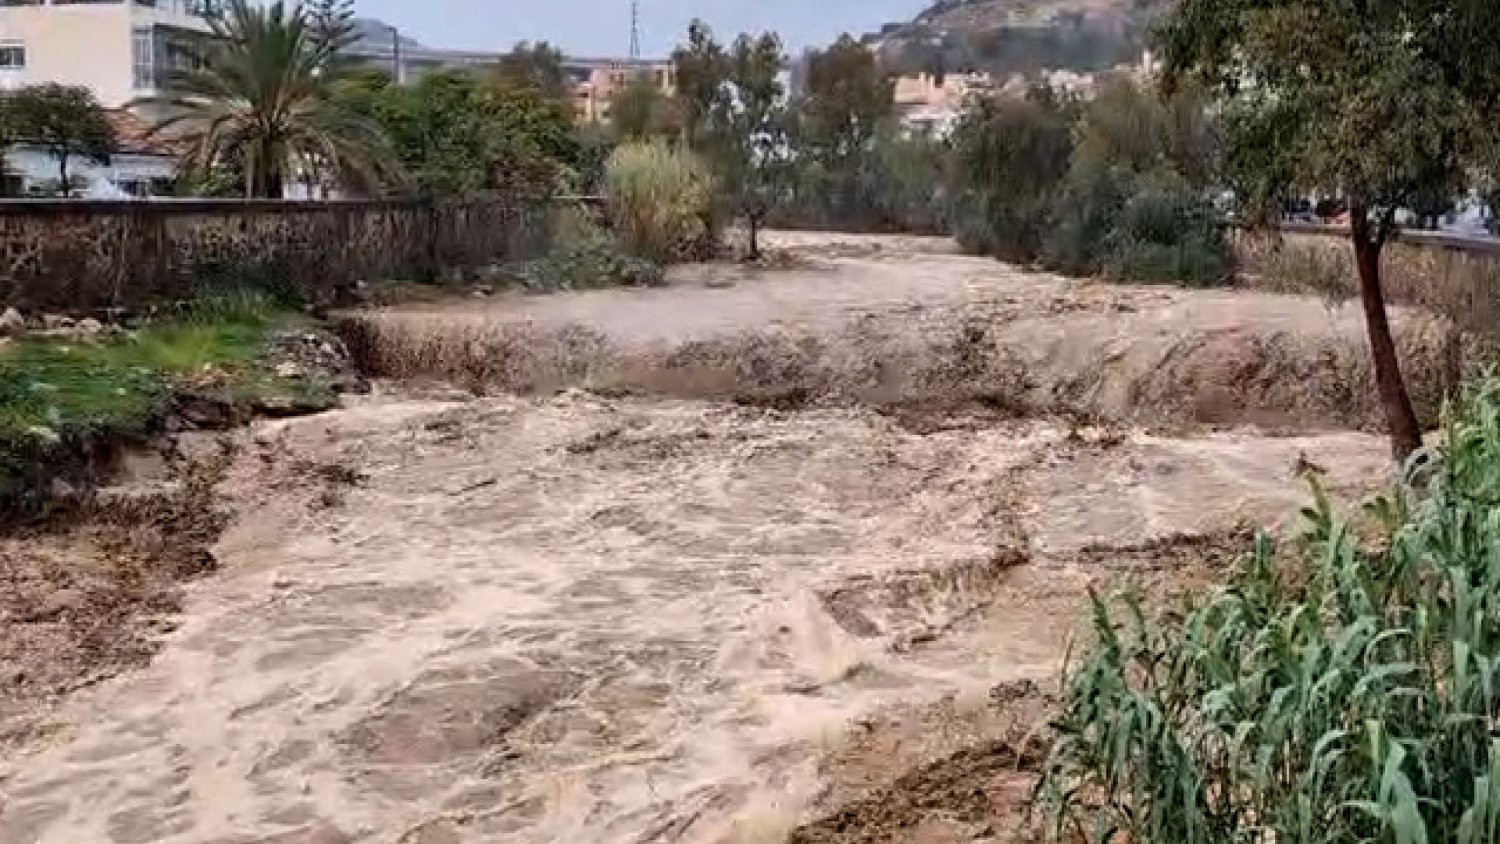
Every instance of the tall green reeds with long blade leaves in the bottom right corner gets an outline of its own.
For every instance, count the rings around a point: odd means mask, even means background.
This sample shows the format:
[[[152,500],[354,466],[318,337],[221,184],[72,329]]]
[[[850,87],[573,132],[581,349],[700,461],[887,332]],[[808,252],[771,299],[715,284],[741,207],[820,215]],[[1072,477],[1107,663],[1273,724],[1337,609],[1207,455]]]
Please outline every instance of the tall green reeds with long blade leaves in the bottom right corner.
[[[1137,844],[1500,840],[1500,387],[1419,489],[1260,538],[1172,612],[1095,598],[1040,786],[1054,832]]]

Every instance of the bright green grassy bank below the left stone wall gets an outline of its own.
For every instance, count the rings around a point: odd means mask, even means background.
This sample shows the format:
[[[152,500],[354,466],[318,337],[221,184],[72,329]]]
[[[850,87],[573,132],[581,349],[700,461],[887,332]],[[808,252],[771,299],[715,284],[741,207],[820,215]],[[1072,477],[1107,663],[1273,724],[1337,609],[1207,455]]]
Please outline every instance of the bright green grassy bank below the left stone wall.
[[[206,301],[134,330],[57,328],[0,345],[0,516],[98,480],[171,427],[316,411],[348,385],[339,342],[258,298]]]

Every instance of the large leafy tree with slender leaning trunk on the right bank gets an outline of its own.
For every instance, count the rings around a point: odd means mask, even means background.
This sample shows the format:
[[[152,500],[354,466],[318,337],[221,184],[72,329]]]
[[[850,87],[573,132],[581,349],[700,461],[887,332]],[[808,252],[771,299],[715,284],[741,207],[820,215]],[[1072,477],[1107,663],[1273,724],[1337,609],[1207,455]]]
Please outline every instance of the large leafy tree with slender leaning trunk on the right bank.
[[[1293,189],[1347,199],[1376,381],[1398,459],[1422,430],[1386,313],[1396,213],[1454,196],[1492,148],[1492,0],[1184,0],[1162,28],[1168,82],[1224,99],[1228,172],[1251,207]]]

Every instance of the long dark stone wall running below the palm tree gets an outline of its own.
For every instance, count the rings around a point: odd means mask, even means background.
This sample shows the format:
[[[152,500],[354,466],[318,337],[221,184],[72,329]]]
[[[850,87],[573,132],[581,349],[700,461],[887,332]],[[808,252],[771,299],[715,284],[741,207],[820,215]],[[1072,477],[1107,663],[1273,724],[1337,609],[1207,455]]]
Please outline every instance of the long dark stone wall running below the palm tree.
[[[546,246],[549,208],[429,201],[0,201],[0,309],[96,312],[256,285],[314,301]]]

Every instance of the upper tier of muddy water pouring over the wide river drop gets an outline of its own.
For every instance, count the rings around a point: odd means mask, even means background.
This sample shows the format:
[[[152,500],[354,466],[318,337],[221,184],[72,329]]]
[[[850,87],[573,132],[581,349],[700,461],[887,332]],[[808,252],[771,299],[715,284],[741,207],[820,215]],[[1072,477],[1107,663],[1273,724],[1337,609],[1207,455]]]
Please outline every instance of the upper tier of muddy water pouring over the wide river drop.
[[[934,238],[772,235],[794,268],[686,267],[652,291],[502,295],[351,315],[381,375],[582,385],[770,406],[1378,430],[1358,307],[1078,282]],[[1446,321],[1395,315],[1419,414],[1461,369]]]

